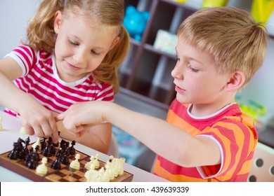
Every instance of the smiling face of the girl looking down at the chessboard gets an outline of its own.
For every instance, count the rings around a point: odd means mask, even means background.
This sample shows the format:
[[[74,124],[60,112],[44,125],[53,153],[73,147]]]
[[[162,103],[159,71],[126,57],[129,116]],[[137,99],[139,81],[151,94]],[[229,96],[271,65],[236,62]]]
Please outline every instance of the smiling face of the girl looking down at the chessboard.
[[[117,27],[99,27],[85,15],[58,11],[54,21],[56,67],[67,83],[84,78],[94,71],[105,55],[119,41]]]

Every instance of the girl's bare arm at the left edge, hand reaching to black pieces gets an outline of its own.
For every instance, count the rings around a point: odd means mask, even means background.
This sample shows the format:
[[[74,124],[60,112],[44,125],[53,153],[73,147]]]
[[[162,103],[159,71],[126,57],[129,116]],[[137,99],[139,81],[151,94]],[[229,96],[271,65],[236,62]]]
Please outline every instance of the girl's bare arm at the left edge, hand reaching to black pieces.
[[[57,125],[53,113],[16,87],[11,80],[22,75],[22,70],[11,57],[0,60],[0,104],[20,113],[20,120],[28,134],[53,137],[58,141]]]

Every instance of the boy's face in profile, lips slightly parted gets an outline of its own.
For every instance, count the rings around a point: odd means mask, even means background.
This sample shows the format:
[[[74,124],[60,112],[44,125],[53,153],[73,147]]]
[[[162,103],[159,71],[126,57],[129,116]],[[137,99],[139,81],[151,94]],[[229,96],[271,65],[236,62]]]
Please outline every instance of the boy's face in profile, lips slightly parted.
[[[214,58],[209,53],[193,48],[178,39],[177,63],[171,75],[174,77],[176,98],[183,104],[221,104],[227,100],[224,87],[230,74],[217,72]]]

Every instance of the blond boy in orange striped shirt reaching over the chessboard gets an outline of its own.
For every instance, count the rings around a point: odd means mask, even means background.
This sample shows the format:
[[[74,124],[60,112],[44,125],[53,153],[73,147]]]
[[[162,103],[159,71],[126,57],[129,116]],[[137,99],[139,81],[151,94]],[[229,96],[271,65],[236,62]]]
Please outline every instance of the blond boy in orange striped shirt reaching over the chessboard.
[[[247,181],[258,137],[235,94],[263,63],[267,34],[237,8],[204,8],[178,29],[176,85],[167,122],[107,102],[74,104],[57,120],[79,136],[110,122],[157,153],[169,181]]]

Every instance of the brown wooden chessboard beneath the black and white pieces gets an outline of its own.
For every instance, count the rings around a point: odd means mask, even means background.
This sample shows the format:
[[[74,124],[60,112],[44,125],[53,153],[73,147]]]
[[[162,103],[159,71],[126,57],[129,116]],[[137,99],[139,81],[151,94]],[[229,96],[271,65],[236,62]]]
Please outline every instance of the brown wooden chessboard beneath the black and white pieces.
[[[20,140],[20,139],[18,139]],[[22,141],[22,140],[21,140]],[[15,143],[16,144],[16,143]],[[15,145],[13,144],[13,146]],[[33,144],[26,144],[26,148],[30,149]],[[60,149],[56,147],[56,149]],[[14,150],[14,149],[13,149]],[[81,153],[74,149],[75,155],[79,154],[79,169],[76,171],[70,168],[70,164],[64,165],[63,163],[60,164],[58,169],[53,169],[52,164],[56,161],[56,155],[46,155],[47,162],[47,173],[46,174],[39,174],[37,173],[36,169],[30,169],[26,165],[26,161],[22,158],[16,158],[14,160],[11,159],[11,152],[8,151],[0,155],[0,165],[2,167],[6,167],[6,169],[10,169],[11,171],[20,174],[21,176],[25,176],[27,179],[37,182],[86,182],[87,179],[85,178],[85,174],[88,169],[85,169],[85,165],[87,162],[91,161],[91,156],[86,155],[85,153]],[[56,151],[57,152],[57,151]],[[41,165],[41,160],[45,157],[42,155],[42,151],[37,151],[39,153],[39,161],[37,161],[37,166]],[[68,155],[68,161],[72,162],[75,160],[75,155]],[[98,169],[105,167],[105,162],[98,160],[100,166]],[[124,171],[123,174],[115,177],[114,179],[110,180],[110,182],[130,182],[133,179],[133,174]]]

